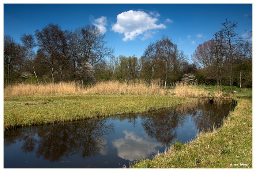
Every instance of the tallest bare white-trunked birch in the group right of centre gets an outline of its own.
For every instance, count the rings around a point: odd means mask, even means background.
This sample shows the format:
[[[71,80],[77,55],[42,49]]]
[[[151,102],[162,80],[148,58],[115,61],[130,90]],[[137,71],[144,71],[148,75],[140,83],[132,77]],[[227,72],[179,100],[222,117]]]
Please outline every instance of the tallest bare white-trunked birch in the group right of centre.
[[[167,73],[169,70],[168,64],[170,63],[174,47],[175,45],[172,43],[172,40],[167,36],[162,36],[162,39],[158,40],[156,43],[156,54],[165,63],[165,88],[167,85]]]

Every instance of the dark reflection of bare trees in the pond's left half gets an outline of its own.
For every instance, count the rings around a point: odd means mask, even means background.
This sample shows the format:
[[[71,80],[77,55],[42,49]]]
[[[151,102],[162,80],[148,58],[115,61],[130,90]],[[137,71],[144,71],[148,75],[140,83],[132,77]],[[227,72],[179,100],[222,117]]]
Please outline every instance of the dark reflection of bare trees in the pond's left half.
[[[31,129],[37,131],[31,132]],[[18,129],[18,137],[11,131],[6,131],[4,141],[6,145],[15,143],[16,139],[24,140],[22,149],[32,152],[35,144],[37,157],[44,157],[50,161],[58,161],[61,157],[80,153],[82,157],[95,156],[106,147],[105,135],[113,132],[113,123],[108,119],[84,120],[75,123],[63,123]],[[38,140],[34,139],[37,132]]]

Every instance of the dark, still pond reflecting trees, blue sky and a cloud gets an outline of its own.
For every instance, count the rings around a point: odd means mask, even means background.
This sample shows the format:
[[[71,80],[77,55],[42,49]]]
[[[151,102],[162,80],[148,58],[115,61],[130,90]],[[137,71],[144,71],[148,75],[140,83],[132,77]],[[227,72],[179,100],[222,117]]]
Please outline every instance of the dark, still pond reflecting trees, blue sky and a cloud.
[[[206,99],[127,114],[4,132],[4,168],[123,168],[221,127],[234,100]]]

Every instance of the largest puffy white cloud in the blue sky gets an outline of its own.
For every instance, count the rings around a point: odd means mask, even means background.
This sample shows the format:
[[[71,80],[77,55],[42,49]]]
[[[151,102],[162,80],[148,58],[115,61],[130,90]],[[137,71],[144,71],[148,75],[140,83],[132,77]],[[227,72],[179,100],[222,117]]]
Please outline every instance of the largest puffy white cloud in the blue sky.
[[[151,29],[164,29],[164,24],[156,24],[158,19],[143,11],[125,11],[117,15],[117,22],[112,25],[112,31],[123,33],[123,41],[134,40],[138,35],[148,34]],[[152,33],[152,32],[151,32]]]

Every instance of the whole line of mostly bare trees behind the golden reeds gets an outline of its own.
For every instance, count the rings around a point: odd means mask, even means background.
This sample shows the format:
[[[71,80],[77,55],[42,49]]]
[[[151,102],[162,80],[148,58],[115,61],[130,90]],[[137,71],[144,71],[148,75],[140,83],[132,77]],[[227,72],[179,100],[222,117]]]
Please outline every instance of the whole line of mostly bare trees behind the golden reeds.
[[[150,43],[140,58],[116,57],[95,25],[63,31],[50,23],[34,35],[21,35],[22,44],[4,35],[4,85],[159,79],[166,88],[191,73],[200,84],[219,89],[222,85],[230,85],[230,91],[233,85],[252,87],[252,43],[238,37],[236,27],[236,22],[222,23],[212,39],[197,46],[189,63],[184,51],[166,35]]]

